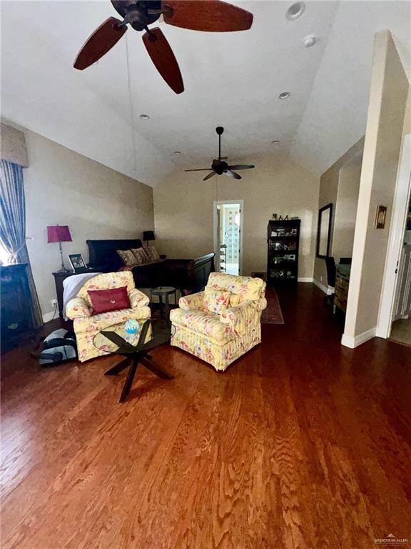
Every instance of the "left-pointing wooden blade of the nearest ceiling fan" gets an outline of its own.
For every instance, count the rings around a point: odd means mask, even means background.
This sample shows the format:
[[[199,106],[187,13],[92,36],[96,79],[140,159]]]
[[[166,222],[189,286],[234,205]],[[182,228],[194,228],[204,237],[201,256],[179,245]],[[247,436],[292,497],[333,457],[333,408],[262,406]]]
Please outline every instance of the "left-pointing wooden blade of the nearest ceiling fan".
[[[86,44],[78,52],[76,61],[73,64],[74,69],[83,71],[83,69],[101,59],[107,51],[117,44],[127,30],[126,26],[118,26],[119,23],[121,23],[120,19],[109,17],[89,36]]]

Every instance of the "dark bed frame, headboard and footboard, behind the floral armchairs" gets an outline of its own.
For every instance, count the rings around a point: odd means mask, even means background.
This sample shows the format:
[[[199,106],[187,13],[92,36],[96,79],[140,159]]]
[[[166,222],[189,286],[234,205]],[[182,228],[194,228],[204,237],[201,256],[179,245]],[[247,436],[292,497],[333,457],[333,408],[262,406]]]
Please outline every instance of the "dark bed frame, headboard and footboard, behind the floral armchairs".
[[[89,264],[103,265],[108,272],[118,271],[123,262],[117,249],[141,248],[140,239],[87,240]],[[173,286],[183,294],[203,290],[210,272],[214,271],[214,253],[197,259],[162,259],[133,267],[136,287]]]

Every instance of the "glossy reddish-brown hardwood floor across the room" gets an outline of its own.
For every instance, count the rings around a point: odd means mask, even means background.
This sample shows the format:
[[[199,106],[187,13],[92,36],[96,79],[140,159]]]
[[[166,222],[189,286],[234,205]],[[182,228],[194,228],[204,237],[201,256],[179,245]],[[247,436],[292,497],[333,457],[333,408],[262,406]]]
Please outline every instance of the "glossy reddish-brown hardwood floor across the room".
[[[115,360],[4,357],[3,549],[411,546],[411,348],[340,346],[313,285],[224,373],[163,346],[175,379]]]

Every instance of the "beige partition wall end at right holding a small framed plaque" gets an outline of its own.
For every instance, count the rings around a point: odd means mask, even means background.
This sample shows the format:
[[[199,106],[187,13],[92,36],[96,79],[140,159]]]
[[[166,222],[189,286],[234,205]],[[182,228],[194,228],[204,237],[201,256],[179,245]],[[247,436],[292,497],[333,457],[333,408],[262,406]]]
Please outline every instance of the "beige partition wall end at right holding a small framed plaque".
[[[370,104],[358,198],[345,333],[342,342],[372,335],[377,325],[409,82],[390,31],[375,36]],[[379,204],[387,206],[385,229],[375,229]]]

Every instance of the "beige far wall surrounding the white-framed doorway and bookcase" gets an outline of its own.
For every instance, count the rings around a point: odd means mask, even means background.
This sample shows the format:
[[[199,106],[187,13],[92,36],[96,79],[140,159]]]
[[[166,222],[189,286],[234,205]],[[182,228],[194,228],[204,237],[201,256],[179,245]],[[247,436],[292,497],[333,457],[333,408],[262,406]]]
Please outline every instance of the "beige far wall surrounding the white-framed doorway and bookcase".
[[[301,219],[299,277],[313,277],[318,210],[318,177],[288,157],[253,157],[243,179],[203,172],[174,172],[154,188],[159,250],[171,257],[213,251],[213,201],[244,200],[243,274],[266,270],[268,220],[273,213]]]

